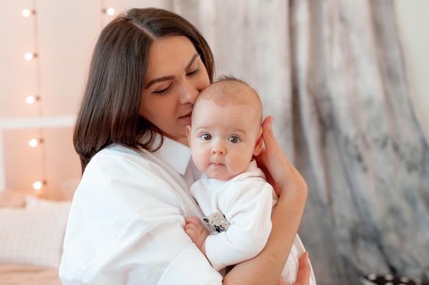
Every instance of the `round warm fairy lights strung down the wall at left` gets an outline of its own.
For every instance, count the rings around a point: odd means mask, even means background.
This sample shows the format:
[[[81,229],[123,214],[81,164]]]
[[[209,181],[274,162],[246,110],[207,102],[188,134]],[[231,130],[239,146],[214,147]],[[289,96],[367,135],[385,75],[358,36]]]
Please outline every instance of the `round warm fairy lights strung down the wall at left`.
[[[108,16],[114,16],[116,11],[114,8],[106,8],[106,5],[103,0],[100,1],[101,5],[101,12],[103,14],[106,14]],[[40,58],[42,55],[40,55],[40,49],[39,49],[39,33],[38,33],[38,14],[36,9],[36,0],[32,1],[32,8],[27,8],[21,11],[21,16],[25,18],[29,18],[30,21],[32,21],[33,26],[33,47],[32,51],[27,51],[23,55],[24,59],[27,62],[35,62],[36,66],[36,74],[34,76],[36,77],[36,86],[34,90],[34,94],[29,94],[25,97],[25,102],[29,105],[36,104],[38,108],[38,117],[43,117],[43,109],[42,109],[42,93],[41,93],[41,66],[40,66]],[[105,25],[103,21],[103,17],[101,17],[101,28]],[[38,129],[38,137],[34,137],[28,141],[28,145],[31,148],[40,148],[40,151],[42,153],[42,160],[41,163],[41,178],[39,180],[36,180],[33,182],[32,187],[34,190],[36,190],[38,193],[41,193],[43,188],[47,185],[47,161],[46,161],[46,146],[45,146],[45,134],[43,133],[43,128]]]

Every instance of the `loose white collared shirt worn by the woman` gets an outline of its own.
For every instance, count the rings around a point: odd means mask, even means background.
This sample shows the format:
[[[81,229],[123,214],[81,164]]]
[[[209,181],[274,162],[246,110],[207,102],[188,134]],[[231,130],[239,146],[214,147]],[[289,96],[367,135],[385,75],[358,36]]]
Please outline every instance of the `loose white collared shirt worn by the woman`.
[[[64,285],[221,284],[184,232],[201,216],[188,188],[191,151],[164,137],[156,152],[113,144],[86,166],[64,239]]]

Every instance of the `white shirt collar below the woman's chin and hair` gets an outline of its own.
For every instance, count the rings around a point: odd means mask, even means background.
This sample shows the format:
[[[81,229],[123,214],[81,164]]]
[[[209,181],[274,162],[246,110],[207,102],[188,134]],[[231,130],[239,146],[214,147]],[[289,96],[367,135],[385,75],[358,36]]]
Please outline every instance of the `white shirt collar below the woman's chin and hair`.
[[[191,160],[191,149],[184,144],[180,144],[168,137],[162,137],[164,140],[159,150],[154,152],[156,157],[173,167],[181,175],[186,172],[189,161]]]

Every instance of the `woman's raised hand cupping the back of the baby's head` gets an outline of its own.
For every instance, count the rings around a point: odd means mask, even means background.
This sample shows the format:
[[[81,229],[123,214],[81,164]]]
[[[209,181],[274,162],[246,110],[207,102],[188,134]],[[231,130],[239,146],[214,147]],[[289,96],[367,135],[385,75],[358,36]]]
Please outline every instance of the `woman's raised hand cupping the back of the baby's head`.
[[[274,187],[275,193],[280,196],[283,189],[299,189],[307,195],[307,185],[301,174],[289,162],[282,148],[274,137],[273,116],[267,116],[262,123],[262,139],[265,148],[255,157],[258,167],[267,176],[267,181]]]

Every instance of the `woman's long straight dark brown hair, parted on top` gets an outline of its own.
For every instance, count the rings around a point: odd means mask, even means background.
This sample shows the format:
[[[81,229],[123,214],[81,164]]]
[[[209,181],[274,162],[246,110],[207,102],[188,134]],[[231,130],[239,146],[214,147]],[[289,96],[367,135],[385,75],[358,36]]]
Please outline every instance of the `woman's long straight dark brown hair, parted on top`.
[[[101,31],[90,62],[88,80],[73,134],[82,172],[109,144],[156,151],[159,128],[138,116],[149,47],[154,40],[186,36],[199,53],[212,82],[212,51],[196,27],[167,10],[131,9]],[[162,142],[161,142],[162,144]]]

